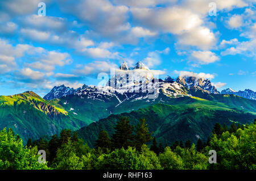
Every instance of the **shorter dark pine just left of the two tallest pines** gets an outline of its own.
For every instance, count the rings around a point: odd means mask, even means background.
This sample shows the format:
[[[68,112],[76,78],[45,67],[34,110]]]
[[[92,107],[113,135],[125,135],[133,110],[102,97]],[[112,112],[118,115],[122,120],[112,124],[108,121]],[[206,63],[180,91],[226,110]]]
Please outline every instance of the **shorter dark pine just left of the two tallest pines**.
[[[96,140],[96,148],[101,148],[104,153],[107,153],[111,148],[111,140],[109,134],[105,130],[101,130],[98,140]]]

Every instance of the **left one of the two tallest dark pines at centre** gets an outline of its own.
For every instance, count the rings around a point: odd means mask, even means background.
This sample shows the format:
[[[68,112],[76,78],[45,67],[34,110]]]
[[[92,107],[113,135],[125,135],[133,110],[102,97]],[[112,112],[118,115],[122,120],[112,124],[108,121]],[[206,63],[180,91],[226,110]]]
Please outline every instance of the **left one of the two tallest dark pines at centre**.
[[[134,127],[130,125],[130,120],[127,117],[121,117],[116,125],[115,133],[112,136],[114,148],[125,148],[133,146]]]

